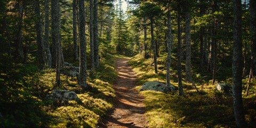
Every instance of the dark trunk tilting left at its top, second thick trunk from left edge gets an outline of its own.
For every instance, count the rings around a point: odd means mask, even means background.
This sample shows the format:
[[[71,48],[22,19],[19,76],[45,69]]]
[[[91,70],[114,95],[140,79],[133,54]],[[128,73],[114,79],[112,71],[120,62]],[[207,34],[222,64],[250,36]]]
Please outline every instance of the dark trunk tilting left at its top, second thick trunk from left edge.
[[[35,27],[36,27],[36,40],[37,40],[37,52],[38,52],[38,64],[39,68],[43,69],[45,64],[45,52],[43,42],[43,23],[40,14],[40,3],[39,0],[34,1],[35,8]]]

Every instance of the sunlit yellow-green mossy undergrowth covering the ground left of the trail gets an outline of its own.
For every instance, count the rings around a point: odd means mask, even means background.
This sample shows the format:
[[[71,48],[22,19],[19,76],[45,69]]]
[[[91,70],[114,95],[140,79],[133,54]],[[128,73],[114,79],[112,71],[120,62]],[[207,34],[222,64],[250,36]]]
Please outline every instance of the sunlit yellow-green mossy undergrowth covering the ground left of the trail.
[[[54,69],[39,71],[33,65],[12,65],[11,71],[1,69],[0,82],[5,86],[0,88],[0,127],[96,127],[100,117],[113,108],[116,58],[105,54],[100,68],[87,72],[90,90],[83,91],[76,77],[61,74],[59,89],[76,92],[79,101],[45,99],[53,90]]]

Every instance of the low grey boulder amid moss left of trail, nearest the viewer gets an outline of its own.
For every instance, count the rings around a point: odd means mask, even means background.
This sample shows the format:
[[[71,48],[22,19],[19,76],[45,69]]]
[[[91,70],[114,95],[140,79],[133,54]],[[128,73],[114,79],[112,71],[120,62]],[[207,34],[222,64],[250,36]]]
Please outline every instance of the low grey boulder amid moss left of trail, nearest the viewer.
[[[46,96],[46,99],[53,101],[63,101],[65,103],[69,100],[79,100],[75,92],[68,90],[53,90],[52,94]]]

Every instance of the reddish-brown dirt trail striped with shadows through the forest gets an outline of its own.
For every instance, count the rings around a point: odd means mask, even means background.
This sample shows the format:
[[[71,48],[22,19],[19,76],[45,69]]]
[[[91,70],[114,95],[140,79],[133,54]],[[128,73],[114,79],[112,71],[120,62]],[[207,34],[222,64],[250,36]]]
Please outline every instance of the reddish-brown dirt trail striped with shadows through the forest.
[[[129,59],[124,58],[116,61],[118,78],[114,84],[115,109],[102,118],[99,127],[146,127],[147,125],[143,97],[133,89],[137,85],[137,76],[127,61]]]

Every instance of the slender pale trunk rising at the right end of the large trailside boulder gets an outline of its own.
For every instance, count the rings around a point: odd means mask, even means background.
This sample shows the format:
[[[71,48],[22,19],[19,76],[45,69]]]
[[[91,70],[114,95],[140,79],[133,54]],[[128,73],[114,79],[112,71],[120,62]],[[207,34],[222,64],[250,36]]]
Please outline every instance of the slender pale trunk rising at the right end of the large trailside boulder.
[[[170,83],[170,66],[171,66],[171,52],[172,52],[172,29],[171,29],[171,10],[167,11],[167,63],[166,63],[166,85],[171,86]]]

